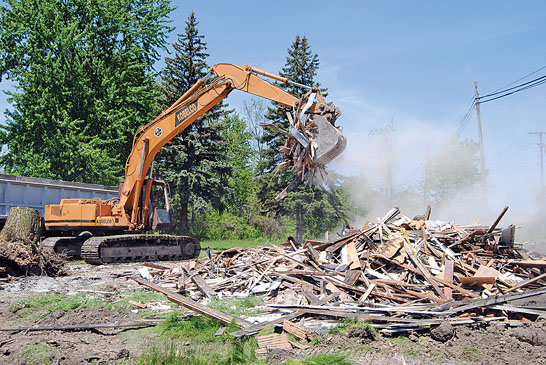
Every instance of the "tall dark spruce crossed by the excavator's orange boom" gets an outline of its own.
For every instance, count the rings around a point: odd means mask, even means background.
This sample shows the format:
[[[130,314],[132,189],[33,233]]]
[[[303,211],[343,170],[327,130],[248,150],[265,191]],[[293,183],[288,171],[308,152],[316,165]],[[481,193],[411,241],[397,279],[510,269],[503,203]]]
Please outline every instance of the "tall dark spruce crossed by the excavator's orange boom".
[[[164,108],[208,73],[207,45],[198,24],[192,12],[184,33],[173,44],[174,57],[165,59],[160,83]],[[189,213],[193,221],[196,213],[209,206],[224,208],[222,197],[229,193],[227,179],[231,173],[226,155],[228,142],[223,138],[225,113],[225,107],[217,105],[173,138],[172,144],[163,147],[156,157],[160,176],[171,186],[179,234],[190,233]]]

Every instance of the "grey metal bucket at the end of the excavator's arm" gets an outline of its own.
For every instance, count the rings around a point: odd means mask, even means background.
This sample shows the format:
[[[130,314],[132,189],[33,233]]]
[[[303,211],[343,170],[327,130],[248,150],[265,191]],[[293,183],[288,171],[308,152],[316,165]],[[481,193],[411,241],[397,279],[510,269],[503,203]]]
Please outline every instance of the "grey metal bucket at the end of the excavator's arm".
[[[317,115],[313,121],[317,125],[317,130],[313,131],[316,149],[312,160],[320,166],[325,166],[345,150],[347,138],[323,116]]]

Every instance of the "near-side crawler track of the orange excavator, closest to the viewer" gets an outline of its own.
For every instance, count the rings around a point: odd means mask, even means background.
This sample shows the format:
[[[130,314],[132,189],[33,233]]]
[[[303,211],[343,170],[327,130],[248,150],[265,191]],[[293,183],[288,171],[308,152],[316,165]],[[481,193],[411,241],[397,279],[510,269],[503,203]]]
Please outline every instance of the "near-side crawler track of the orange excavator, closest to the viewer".
[[[94,236],[81,246],[81,256],[93,265],[116,262],[189,260],[199,256],[199,241],[189,236],[125,234]]]

